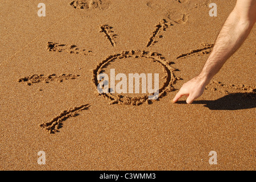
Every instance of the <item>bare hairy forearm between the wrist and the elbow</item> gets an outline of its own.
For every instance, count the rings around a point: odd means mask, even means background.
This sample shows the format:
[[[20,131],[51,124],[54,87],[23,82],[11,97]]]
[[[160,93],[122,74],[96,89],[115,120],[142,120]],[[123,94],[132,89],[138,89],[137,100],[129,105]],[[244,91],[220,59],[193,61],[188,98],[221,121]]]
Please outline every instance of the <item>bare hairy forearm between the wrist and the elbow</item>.
[[[226,60],[242,45],[250,34],[253,25],[253,20],[242,19],[233,10],[222,27],[213,51],[199,75],[205,81],[205,85],[210,82],[211,78],[219,72]]]

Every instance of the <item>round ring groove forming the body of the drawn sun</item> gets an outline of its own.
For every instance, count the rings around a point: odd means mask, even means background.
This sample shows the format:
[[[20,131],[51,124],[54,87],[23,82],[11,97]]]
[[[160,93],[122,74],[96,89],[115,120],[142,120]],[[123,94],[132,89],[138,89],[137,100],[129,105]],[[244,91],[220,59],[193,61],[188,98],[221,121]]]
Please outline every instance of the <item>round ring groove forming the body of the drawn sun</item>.
[[[122,53],[110,55],[110,56],[107,56],[105,60],[98,63],[97,67],[93,70],[93,79],[92,79],[93,84],[96,86],[96,89],[98,90],[98,84],[99,84],[99,81],[97,78],[98,78],[98,75],[103,71],[103,68],[105,68],[109,63],[113,61],[129,58],[129,57],[134,57],[134,58],[144,57],[146,59],[149,59],[153,62],[156,62],[162,65],[163,70],[166,73],[166,77],[165,77],[166,80],[163,86],[159,88],[158,98],[165,96],[167,92],[171,92],[175,90],[173,87],[173,84],[175,84],[175,81],[177,80],[177,78],[174,75],[174,71],[176,69],[170,66],[172,62],[165,60],[165,58],[162,57],[160,53],[138,51],[138,50],[123,51]],[[149,96],[128,97],[128,96],[123,96],[122,94],[98,93],[98,92],[97,94],[110,100],[109,104],[141,105],[144,102],[146,102],[147,104],[150,104],[151,101],[154,101],[154,100],[150,100]]]

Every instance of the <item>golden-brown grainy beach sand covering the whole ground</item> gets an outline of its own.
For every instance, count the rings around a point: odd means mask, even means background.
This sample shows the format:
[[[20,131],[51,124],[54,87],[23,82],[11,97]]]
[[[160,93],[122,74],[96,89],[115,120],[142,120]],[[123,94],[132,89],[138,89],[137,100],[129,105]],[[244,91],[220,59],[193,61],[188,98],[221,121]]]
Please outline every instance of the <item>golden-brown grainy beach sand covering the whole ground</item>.
[[[202,97],[171,103],[235,5],[214,2],[217,17],[206,0],[0,3],[0,169],[254,170],[255,28]],[[110,68],[159,73],[161,97],[97,94]]]

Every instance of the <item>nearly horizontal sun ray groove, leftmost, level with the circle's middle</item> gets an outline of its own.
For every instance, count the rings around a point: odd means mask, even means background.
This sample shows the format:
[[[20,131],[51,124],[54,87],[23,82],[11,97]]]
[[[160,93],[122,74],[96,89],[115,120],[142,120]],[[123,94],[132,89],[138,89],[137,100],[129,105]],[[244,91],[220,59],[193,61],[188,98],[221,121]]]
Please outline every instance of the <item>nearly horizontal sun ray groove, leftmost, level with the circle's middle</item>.
[[[51,75],[29,75],[29,76],[25,76],[23,78],[19,78],[18,82],[26,82],[27,85],[32,85],[35,83],[39,83],[39,82],[44,82],[44,83],[49,83],[50,81],[58,81],[58,82],[63,82],[63,80],[74,80],[76,78],[78,78],[80,75],[72,75],[72,74],[61,74],[59,76],[55,75],[55,74],[51,74]]]

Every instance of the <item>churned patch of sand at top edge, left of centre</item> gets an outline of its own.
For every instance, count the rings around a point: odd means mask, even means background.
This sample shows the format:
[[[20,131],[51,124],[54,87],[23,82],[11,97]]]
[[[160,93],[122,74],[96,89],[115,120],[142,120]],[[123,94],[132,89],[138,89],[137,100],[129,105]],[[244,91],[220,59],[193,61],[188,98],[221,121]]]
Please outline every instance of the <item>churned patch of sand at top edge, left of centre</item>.
[[[110,7],[109,0],[80,0],[80,1],[72,1],[69,5],[73,6],[74,9],[99,9],[99,10],[107,10]]]

